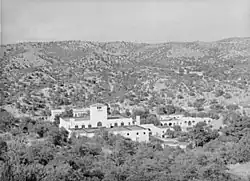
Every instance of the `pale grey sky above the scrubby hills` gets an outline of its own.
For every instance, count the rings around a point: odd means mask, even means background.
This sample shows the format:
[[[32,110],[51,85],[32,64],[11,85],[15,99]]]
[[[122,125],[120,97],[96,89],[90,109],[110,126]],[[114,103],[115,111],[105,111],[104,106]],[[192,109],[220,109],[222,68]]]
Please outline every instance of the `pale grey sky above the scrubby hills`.
[[[2,43],[250,37],[250,0],[2,0]]]

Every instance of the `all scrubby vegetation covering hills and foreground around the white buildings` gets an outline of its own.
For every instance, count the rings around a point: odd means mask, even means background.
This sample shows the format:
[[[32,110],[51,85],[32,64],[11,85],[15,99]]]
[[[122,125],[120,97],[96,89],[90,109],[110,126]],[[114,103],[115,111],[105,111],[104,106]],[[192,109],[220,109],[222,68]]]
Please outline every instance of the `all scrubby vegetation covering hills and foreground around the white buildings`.
[[[4,181],[247,181],[229,165],[250,162],[249,38],[216,42],[27,42],[3,45],[0,180]],[[222,118],[226,127],[175,126],[164,136],[187,149],[137,143],[100,130],[69,137],[52,108],[109,103],[108,114]],[[247,114],[245,114],[247,115]]]

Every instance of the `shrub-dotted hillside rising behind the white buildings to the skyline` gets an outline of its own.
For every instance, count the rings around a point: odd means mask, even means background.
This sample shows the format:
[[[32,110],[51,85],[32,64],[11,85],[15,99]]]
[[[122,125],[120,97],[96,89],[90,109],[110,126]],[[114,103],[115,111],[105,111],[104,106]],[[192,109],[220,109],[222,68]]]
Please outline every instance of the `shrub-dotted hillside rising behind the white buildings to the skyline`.
[[[2,107],[48,115],[60,106],[111,103],[121,111],[199,99],[250,104],[250,38],[215,42],[30,42],[1,47]]]

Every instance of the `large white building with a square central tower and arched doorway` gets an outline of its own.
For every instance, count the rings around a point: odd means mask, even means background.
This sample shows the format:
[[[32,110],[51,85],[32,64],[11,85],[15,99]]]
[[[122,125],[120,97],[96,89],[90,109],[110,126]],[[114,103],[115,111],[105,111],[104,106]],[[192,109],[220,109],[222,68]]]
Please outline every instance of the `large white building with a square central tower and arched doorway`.
[[[100,128],[104,128],[133,141],[149,141],[149,130],[140,126],[139,116],[135,120],[120,115],[108,116],[107,106],[104,104],[91,105],[89,112],[73,110],[73,117],[60,118],[59,127],[64,127],[77,136],[93,137]]]

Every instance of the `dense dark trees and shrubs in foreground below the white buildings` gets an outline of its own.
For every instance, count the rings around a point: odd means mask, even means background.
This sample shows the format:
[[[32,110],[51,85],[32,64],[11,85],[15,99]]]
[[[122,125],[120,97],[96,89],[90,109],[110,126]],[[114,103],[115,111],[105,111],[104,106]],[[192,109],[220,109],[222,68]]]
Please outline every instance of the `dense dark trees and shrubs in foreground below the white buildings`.
[[[186,137],[194,143],[186,151],[162,148],[156,141],[133,142],[103,130],[93,138],[69,138],[66,130],[53,123],[30,118],[23,119],[19,127],[5,125],[2,129],[9,130],[0,139],[4,181],[244,181],[229,173],[227,166],[250,161],[248,117],[233,121],[223,134],[205,123],[198,123],[188,133],[176,126],[173,137]]]

